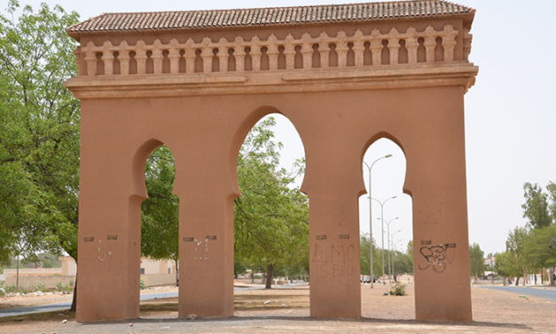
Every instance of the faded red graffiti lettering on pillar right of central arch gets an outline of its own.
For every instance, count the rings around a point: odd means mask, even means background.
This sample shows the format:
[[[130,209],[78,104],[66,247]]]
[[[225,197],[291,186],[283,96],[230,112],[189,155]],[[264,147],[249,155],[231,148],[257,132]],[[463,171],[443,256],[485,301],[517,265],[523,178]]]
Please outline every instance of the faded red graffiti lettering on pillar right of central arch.
[[[311,253],[320,278],[350,276],[355,273],[356,249],[353,244],[316,243]]]

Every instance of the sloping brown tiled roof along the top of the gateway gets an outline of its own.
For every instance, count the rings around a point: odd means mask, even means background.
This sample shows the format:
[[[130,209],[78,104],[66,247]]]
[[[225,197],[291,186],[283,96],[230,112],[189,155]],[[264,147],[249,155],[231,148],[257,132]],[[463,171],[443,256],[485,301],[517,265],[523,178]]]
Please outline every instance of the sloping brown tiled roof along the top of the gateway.
[[[473,14],[474,9],[443,0],[330,4],[183,12],[116,12],[67,28],[71,36],[103,32],[239,28],[321,22],[412,19]]]

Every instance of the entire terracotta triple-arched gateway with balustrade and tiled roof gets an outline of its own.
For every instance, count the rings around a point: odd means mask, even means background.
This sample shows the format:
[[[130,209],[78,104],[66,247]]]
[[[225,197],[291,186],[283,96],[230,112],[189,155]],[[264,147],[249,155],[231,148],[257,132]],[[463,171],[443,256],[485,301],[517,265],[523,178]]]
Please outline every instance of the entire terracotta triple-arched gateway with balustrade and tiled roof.
[[[473,19],[431,0],[107,13],[67,28],[80,43],[67,88],[82,101],[77,320],[139,315],[145,160],[162,144],[180,199],[179,316],[233,315],[239,147],[280,113],[305,148],[310,315],[361,316],[363,155],[388,138],[407,159],[417,319],[471,321]]]

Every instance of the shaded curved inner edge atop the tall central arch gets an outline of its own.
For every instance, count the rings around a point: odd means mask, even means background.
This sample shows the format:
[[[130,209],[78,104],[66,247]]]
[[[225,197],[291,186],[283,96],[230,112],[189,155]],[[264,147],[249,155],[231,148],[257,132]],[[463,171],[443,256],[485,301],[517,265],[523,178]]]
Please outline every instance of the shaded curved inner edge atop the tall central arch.
[[[238,131],[236,131],[236,133],[234,134],[231,140],[228,165],[230,167],[229,175],[231,177],[230,180],[231,188],[233,189],[232,197],[234,198],[239,197],[241,195],[241,191],[239,189],[238,177],[237,177],[238,176],[238,155],[239,155],[239,150],[241,149],[241,145],[243,144],[243,142],[247,138],[247,134],[249,133],[249,131],[251,131],[251,129],[253,129],[255,124],[258,123],[262,119],[262,117],[270,114],[283,115],[284,117],[286,117],[289,123],[292,123],[292,125],[294,125],[294,129],[297,132],[297,134],[300,136],[301,144],[303,145],[303,155],[307,156],[305,152],[305,142],[303,140],[303,136],[299,131],[299,128],[295,126],[294,122],[292,122],[291,117],[281,112],[276,107],[263,106],[263,107],[256,108],[253,112],[247,115],[245,120],[239,125]],[[303,176],[303,180],[301,181],[301,192],[303,192],[302,189],[303,189],[304,181],[305,181],[305,177]]]

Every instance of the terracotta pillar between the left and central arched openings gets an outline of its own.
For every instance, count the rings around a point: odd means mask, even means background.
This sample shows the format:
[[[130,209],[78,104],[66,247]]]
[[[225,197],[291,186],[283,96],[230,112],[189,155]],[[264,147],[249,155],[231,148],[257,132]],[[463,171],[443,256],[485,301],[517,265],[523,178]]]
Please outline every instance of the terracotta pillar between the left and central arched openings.
[[[231,316],[233,201],[198,190],[179,195],[178,316]]]

